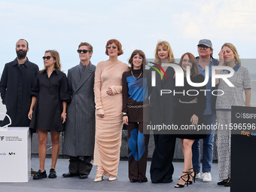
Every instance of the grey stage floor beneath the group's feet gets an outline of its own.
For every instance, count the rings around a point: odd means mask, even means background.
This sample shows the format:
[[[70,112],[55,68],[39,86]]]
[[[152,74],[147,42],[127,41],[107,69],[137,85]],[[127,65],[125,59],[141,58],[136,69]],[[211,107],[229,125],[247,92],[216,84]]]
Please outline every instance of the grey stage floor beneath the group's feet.
[[[45,169],[47,174],[50,170],[50,158],[46,159]],[[18,163],[18,162],[17,162]],[[62,178],[64,172],[68,172],[69,160],[68,159],[59,159],[56,164],[56,173],[57,178],[42,178],[40,180],[33,180],[30,178],[28,183],[0,183],[0,191],[5,192],[66,192],[66,191],[75,191],[75,192],[87,192],[87,191],[175,191],[174,185],[178,183],[178,176],[181,175],[183,169],[183,163],[174,163],[175,172],[173,175],[172,183],[168,184],[152,184],[150,180],[150,169],[151,161],[148,161],[147,177],[148,182],[146,183],[130,183],[128,179],[128,162],[126,160],[121,160],[118,166],[118,175],[116,181],[108,181],[108,177],[105,176],[104,181],[93,182],[96,175],[96,166],[93,166],[92,171],[87,179],[79,179],[78,177],[73,178]],[[32,157],[32,168],[38,170],[39,160],[38,157]],[[202,178],[196,179],[196,183],[184,187],[187,191],[190,192],[212,192],[212,191],[230,191],[230,187],[218,186],[218,164],[212,164],[212,182],[203,182]],[[15,174],[15,172],[13,173]],[[202,173],[201,173],[202,175]],[[183,190],[184,190],[183,189]],[[182,189],[179,189],[182,190]]]

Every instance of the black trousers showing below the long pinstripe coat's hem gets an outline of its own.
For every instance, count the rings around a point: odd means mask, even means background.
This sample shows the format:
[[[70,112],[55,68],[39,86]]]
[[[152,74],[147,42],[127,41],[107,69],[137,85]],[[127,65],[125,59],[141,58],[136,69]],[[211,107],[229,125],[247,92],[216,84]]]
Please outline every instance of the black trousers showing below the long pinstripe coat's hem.
[[[89,175],[90,170],[93,168],[93,164],[90,161],[93,156],[83,156],[83,157],[72,157],[69,156],[69,172],[73,174],[85,174]]]

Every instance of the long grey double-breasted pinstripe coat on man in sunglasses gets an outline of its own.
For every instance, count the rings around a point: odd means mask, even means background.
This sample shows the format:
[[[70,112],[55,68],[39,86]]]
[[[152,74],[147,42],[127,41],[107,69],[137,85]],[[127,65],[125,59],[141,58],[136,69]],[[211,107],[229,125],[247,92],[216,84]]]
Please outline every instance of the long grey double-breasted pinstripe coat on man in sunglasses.
[[[69,92],[72,102],[67,108],[63,154],[69,156],[93,156],[95,141],[94,73],[91,62],[83,76],[79,65],[69,69]]]

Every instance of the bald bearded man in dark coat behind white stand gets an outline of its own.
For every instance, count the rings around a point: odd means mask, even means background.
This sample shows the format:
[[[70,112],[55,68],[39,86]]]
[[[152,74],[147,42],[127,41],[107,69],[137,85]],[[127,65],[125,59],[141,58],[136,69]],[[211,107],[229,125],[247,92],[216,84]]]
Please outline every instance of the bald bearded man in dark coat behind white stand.
[[[38,66],[30,62],[26,56],[29,43],[20,39],[16,43],[17,58],[5,64],[0,82],[2,103],[11,117],[11,126],[29,126],[28,117],[31,104],[30,90],[32,88]],[[9,123],[7,117],[1,126]]]

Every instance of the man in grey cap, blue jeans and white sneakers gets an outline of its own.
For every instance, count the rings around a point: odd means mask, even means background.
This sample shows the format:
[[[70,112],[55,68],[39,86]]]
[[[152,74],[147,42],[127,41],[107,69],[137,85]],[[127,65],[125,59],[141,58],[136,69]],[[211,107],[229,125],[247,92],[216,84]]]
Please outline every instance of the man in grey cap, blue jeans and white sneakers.
[[[203,120],[205,125],[215,125],[216,120],[216,96],[212,96],[212,66],[218,66],[218,60],[212,57],[212,41],[209,39],[201,39],[197,45],[197,65],[200,74],[206,77],[206,66],[209,66],[209,81],[206,84],[206,90],[211,90],[206,93],[206,110],[203,113]],[[206,138],[203,139],[203,181],[212,181],[211,169],[212,169],[212,155],[213,155],[213,143],[215,130],[206,130]],[[196,172],[196,178],[200,178],[200,140],[196,139],[193,146],[193,168]]]

